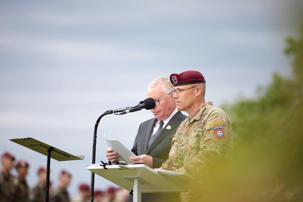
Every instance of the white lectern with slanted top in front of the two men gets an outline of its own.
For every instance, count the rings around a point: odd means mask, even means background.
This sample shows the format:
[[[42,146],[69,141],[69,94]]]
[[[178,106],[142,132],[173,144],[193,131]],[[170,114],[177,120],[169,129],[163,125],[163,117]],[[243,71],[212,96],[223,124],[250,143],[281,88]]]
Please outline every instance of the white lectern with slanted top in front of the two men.
[[[107,168],[107,169],[106,169]],[[107,165],[93,164],[87,169],[130,191],[134,202],[141,202],[141,193],[187,192],[194,180],[182,173],[155,171],[144,164]]]

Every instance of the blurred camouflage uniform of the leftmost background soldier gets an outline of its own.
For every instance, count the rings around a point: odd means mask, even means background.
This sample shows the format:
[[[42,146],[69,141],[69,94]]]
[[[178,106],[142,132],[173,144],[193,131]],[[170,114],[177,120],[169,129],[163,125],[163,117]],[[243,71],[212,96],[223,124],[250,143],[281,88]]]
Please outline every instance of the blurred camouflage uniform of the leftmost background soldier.
[[[6,176],[0,171],[0,202],[15,201],[15,185],[12,175]]]

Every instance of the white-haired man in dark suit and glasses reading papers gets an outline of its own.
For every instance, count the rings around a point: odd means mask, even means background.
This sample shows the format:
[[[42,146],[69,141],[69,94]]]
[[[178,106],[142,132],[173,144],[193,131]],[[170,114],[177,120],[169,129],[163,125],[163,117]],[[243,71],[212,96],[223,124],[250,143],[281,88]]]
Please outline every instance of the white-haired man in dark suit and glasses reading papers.
[[[132,148],[132,152],[137,156],[129,158],[132,163],[144,163],[148,167],[157,168],[168,159],[173,135],[180,123],[187,118],[176,109],[171,91],[173,91],[173,86],[168,77],[157,77],[148,84],[147,97],[154,98],[156,102],[155,108],[151,109],[155,118],[140,124]],[[116,163],[119,154],[108,148],[106,157],[108,161]],[[142,194],[142,202],[179,200],[179,193]],[[130,197],[130,201],[132,201],[132,197]]]

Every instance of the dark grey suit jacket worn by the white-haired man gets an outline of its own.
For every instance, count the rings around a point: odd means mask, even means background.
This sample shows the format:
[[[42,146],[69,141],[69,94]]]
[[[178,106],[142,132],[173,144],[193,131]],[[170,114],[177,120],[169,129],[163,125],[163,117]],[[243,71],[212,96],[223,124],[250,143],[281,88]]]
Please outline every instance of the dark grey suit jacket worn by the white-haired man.
[[[155,138],[150,147],[148,147],[148,141],[151,137],[151,132],[154,128],[156,119],[152,118],[147,121],[144,121],[140,124],[137,136],[135,138],[135,143],[132,148],[132,152],[137,156],[146,154],[153,158],[153,167],[159,168],[162,163],[168,159],[168,153],[171,149],[172,136],[176,133],[179,125],[187,116],[183,115],[181,111],[178,111],[163,127],[163,130]],[[168,126],[171,129],[166,129]],[[132,195],[130,195],[130,200],[132,201]],[[142,194],[142,202],[147,201],[180,201],[179,193],[144,193]]]

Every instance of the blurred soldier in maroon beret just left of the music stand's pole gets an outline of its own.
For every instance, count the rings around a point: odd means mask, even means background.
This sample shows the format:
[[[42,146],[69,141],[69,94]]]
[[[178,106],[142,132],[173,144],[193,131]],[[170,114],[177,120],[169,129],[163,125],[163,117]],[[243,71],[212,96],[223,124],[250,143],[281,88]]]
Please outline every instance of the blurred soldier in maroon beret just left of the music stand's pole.
[[[32,202],[44,202],[46,197],[46,167],[38,168],[39,182],[32,188]]]

